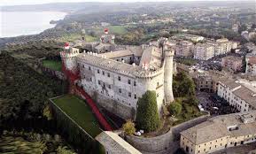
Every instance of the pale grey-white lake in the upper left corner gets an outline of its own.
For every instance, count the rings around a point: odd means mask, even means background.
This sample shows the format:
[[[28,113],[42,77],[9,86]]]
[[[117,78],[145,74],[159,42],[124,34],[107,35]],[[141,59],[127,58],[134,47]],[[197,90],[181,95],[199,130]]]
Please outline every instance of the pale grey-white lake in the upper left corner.
[[[50,20],[65,16],[66,12],[0,12],[0,37],[39,34],[55,27]]]

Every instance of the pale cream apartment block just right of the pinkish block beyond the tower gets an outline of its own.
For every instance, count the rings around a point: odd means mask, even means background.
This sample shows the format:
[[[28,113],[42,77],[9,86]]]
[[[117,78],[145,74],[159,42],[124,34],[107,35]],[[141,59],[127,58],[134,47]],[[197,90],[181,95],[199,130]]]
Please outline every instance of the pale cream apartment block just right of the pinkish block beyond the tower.
[[[214,57],[214,47],[208,43],[197,43],[194,48],[194,58],[208,60]]]

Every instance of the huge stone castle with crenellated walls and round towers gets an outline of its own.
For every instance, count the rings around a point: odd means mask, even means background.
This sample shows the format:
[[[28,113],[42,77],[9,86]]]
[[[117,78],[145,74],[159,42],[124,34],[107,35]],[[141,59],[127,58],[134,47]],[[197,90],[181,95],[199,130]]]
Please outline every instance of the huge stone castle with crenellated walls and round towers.
[[[60,56],[68,71],[79,73],[75,83],[122,119],[136,117],[138,98],[147,90],[156,91],[159,112],[173,102],[172,44],[160,38],[149,45],[119,46],[113,39],[114,35],[105,33],[100,42],[81,42],[81,47],[90,45],[88,52],[66,45]]]

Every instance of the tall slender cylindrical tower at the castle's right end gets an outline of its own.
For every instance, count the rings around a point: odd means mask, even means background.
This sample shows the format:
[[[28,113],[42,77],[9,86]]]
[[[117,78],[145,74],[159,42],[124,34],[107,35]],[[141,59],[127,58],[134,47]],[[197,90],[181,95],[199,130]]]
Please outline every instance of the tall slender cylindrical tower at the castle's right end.
[[[164,77],[164,88],[165,88],[165,102],[167,104],[175,100],[173,94],[173,66],[174,66],[174,55],[175,50],[171,47],[171,44],[167,42],[164,44],[165,53],[165,77]]]

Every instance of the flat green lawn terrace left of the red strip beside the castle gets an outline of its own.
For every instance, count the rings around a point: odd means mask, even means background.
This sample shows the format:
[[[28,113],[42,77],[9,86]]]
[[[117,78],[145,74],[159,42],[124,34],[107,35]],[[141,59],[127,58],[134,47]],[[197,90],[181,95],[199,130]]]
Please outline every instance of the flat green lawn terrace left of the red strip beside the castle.
[[[89,106],[77,96],[60,96],[52,101],[92,137],[102,132]]]

